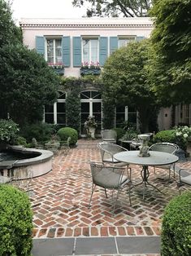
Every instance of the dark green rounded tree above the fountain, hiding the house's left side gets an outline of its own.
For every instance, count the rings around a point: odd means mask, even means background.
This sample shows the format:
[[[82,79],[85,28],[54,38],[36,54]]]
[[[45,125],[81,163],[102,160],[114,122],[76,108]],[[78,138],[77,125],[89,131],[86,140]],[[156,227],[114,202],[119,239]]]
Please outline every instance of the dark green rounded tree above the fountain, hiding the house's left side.
[[[59,78],[46,60],[20,44],[0,48],[0,117],[20,126],[42,120],[43,105],[56,100]]]

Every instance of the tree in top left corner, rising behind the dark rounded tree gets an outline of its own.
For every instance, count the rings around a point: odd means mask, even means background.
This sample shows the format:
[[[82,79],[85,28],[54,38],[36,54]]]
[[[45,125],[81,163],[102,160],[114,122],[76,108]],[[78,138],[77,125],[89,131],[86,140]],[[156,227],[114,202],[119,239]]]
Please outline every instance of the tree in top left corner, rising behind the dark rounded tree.
[[[11,17],[10,3],[0,0],[0,47],[8,43],[22,43],[22,33]]]

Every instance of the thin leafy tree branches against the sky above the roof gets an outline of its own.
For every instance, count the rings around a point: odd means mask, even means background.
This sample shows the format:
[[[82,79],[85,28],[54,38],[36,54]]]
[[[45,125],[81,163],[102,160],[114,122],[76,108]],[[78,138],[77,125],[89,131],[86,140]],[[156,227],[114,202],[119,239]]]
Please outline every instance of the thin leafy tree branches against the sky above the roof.
[[[82,7],[89,2],[91,7],[87,9],[87,16],[112,16],[118,17],[142,17],[150,10],[152,0],[73,0],[74,7]]]

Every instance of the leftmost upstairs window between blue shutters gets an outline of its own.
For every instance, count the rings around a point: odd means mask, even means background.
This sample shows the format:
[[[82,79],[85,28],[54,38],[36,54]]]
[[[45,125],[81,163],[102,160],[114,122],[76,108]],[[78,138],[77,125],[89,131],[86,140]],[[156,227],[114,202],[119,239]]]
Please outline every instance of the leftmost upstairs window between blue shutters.
[[[62,63],[62,39],[46,39],[46,59],[49,64]]]

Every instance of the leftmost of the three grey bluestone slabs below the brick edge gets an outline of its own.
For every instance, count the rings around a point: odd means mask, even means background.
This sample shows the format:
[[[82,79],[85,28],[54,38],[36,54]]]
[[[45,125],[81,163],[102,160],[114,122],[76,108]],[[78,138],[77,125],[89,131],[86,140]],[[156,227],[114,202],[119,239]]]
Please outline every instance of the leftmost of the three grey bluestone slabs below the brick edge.
[[[33,239],[33,256],[72,255],[74,238]]]

